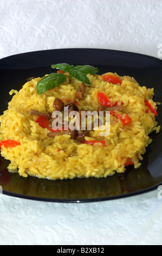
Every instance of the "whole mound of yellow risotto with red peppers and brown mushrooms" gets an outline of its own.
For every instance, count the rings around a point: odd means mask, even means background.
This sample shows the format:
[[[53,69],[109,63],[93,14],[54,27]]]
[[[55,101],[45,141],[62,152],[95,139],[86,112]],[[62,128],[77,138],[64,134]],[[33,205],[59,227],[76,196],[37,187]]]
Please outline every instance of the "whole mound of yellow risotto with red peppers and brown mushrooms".
[[[40,77],[25,83],[19,92],[10,92],[14,96],[1,115],[0,137],[1,155],[10,160],[9,172],[56,180],[107,177],[124,173],[130,164],[139,168],[152,142],[150,133],[160,131],[154,89],[111,72],[86,74],[89,85],[66,70],[57,74],[66,80],[45,92],[38,93]],[[97,118],[96,126],[93,120],[90,130],[87,119],[85,130],[53,129],[53,113],[63,108],[68,113],[103,113],[103,120]],[[101,132],[107,124],[109,132]]]

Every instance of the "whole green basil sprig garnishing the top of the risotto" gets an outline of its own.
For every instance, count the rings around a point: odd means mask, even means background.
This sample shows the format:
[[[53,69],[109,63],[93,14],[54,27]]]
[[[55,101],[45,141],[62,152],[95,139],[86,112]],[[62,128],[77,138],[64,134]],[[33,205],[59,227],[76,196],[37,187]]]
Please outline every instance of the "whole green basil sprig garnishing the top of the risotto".
[[[56,65],[51,65],[52,69],[59,69],[63,72],[69,72],[69,77],[73,77],[76,80],[87,84],[87,86],[93,86],[90,83],[87,74],[95,74],[98,72],[98,68],[94,68],[90,65],[69,65],[67,63],[61,63]],[[53,89],[60,86],[62,83],[66,82],[66,75],[62,73],[51,73],[48,76],[43,77],[37,82],[37,94],[42,94],[47,92],[47,90]]]

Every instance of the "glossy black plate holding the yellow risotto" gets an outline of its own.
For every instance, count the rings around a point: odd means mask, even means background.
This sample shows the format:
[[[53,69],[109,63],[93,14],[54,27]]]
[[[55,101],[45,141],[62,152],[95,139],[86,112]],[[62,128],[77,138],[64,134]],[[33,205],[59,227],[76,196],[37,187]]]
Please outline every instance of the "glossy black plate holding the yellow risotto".
[[[51,72],[51,64],[56,63],[89,64],[99,68],[99,74],[117,72],[119,75],[133,76],[141,86],[154,87],[154,101],[162,101],[162,61],[137,53],[71,48],[61,50],[37,51],[0,60],[1,114],[11,100],[11,89],[20,90],[30,77],[44,76]],[[158,108],[158,122],[161,125],[161,107]],[[133,196],[157,188],[162,184],[161,132],[152,133],[153,143],[139,169],[132,166],[124,174],[108,178],[42,180],[18,174],[9,174],[8,161],[1,158],[0,185],[3,194],[42,200],[48,202],[94,202]]]

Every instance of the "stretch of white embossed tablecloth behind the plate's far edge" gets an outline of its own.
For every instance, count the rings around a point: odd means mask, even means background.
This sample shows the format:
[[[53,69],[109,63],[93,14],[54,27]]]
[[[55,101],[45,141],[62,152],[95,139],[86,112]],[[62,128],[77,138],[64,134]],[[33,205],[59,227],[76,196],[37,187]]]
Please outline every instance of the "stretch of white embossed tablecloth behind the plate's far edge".
[[[0,1],[0,57],[50,48],[97,47],[157,54],[160,0]]]

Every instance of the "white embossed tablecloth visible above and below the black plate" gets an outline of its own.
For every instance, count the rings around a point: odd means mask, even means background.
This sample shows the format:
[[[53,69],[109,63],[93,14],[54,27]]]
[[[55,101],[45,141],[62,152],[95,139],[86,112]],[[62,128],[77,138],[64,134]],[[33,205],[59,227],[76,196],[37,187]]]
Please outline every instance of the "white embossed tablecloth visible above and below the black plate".
[[[56,48],[161,57],[161,0],[0,0],[0,58]],[[158,190],[98,203],[3,195],[0,245],[161,245]]]

